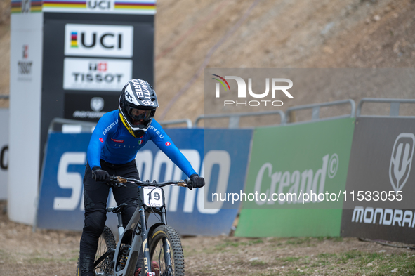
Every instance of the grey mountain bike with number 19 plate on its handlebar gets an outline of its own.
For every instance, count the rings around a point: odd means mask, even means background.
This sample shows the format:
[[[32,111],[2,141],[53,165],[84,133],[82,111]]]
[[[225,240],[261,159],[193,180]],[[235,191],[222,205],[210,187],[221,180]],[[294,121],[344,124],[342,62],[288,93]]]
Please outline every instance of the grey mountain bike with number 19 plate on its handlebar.
[[[137,266],[142,268],[140,276],[185,275],[180,237],[166,222],[162,187],[175,185],[192,189],[191,181],[157,183],[157,181],[110,176],[109,185],[126,187],[124,183],[138,185],[138,206],[125,228],[121,216],[126,204],[107,209],[107,212],[117,213],[119,242],[116,244],[112,231],[105,225],[93,264],[95,275],[133,276]],[[159,222],[147,228],[150,213],[154,213],[159,218]],[[143,262],[137,265],[138,256],[143,256]],[[154,265],[154,262],[157,265]]]

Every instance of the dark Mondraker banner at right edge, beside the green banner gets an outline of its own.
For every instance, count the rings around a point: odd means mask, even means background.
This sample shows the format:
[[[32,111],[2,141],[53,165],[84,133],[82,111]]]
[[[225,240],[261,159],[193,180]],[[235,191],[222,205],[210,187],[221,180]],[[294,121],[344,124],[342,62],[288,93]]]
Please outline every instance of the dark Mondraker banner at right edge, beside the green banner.
[[[415,243],[415,120],[357,118],[341,235]]]

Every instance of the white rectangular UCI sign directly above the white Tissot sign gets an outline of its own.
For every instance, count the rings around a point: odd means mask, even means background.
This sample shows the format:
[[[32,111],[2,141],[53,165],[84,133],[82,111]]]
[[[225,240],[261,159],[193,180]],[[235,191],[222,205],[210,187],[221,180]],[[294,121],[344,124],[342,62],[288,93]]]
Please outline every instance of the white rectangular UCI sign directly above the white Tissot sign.
[[[65,55],[131,58],[133,26],[67,24]]]

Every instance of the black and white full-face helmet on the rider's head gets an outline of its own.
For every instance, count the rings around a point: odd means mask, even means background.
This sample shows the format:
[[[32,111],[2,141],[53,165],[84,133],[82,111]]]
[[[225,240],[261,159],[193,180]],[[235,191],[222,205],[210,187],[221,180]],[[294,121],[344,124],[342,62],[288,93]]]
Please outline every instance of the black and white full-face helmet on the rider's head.
[[[149,128],[158,106],[152,86],[142,79],[131,79],[119,97],[119,117],[129,133],[140,138]]]

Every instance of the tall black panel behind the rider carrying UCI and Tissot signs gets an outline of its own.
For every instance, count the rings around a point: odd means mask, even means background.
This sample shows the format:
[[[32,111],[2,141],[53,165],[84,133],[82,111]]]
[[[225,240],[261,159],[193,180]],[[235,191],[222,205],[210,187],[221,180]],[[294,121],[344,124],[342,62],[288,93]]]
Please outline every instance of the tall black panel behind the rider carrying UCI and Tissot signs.
[[[53,118],[98,121],[129,79],[154,86],[154,15],[44,13],[43,47],[42,147]]]

